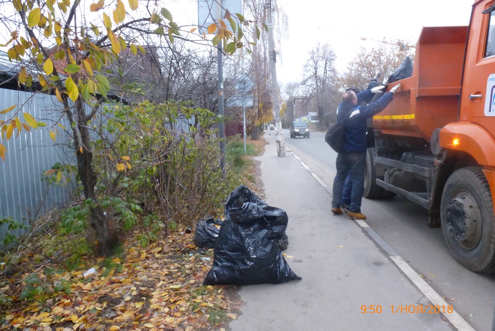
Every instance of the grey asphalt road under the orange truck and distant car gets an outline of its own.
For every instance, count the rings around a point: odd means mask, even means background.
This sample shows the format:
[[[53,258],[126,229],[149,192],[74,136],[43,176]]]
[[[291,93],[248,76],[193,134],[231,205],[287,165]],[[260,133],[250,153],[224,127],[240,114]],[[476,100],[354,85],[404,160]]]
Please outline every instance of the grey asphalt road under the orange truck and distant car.
[[[291,139],[289,131],[284,130],[284,138],[286,146],[331,188],[337,155],[325,143],[324,133],[311,132],[309,139]],[[293,156],[289,153],[287,157]],[[428,227],[426,210],[395,197],[363,199],[362,213],[372,229],[475,330],[491,330],[495,274],[473,273],[457,263],[448,251],[442,229]]]

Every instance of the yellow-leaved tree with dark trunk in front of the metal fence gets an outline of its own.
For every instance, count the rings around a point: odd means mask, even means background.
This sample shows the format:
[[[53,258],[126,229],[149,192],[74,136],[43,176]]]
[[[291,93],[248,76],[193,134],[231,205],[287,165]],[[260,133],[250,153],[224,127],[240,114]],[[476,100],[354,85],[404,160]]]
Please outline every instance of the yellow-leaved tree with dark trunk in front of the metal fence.
[[[110,231],[109,219],[98,204],[95,191],[98,173],[92,163],[89,127],[110,96],[110,84],[102,71],[127,49],[133,55],[145,53],[144,45],[141,45],[144,36],[164,37],[173,43],[175,38],[187,39],[181,32],[194,33],[196,28],[184,31],[170,11],[160,8],[158,2],[98,0],[85,7],[80,0],[4,0],[0,2],[0,8],[3,13],[0,19],[10,32],[10,39],[1,46],[8,46],[8,57],[20,63],[19,84],[26,88],[36,85],[40,92],[55,95],[62,105],[60,113],[71,125],[69,131],[84,196],[92,201],[89,224],[95,232],[96,252],[101,256],[111,254],[117,238]],[[6,13],[12,11],[15,14],[7,16]],[[244,46],[242,27],[249,22],[242,15],[231,15],[228,11],[224,19],[231,25],[237,21],[241,33],[233,35],[223,20],[216,20],[207,30],[215,33],[214,46],[222,42],[227,53],[233,54]],[[206,38],[204,34],[202,37]],[[1,139],[14,139],[16,132],[47,125],[27,112],[21,114],[18,106],[0,111],[8,116],[0,121]],[[49,127],[53,140],[56,124]],[[5,158],[5,152],[0,143],[0,158]],[[131,167],[126,155],[109,158],[119,171]]]

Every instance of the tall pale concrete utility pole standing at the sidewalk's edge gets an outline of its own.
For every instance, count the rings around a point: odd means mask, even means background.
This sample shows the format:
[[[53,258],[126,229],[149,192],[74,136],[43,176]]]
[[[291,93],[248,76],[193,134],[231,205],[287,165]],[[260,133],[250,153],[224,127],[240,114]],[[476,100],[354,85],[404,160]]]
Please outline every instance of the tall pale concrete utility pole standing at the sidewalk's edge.
[[[277,69],[275,65],[277,62],[277,55],[275,54],[275,41],[273,39],[271,0],[266,0],[265,12],[268,25],[268,54],[270,56],[270,73],[272,76],[273,110],[275,111],[275,127],[277,129],[277,132],[275,132],[275,141],[277,142],[277,155],[279,157],[285,157],[285,141],[284,133],[282,132],[282,122],[280,120],[279,90],[277,82]]]

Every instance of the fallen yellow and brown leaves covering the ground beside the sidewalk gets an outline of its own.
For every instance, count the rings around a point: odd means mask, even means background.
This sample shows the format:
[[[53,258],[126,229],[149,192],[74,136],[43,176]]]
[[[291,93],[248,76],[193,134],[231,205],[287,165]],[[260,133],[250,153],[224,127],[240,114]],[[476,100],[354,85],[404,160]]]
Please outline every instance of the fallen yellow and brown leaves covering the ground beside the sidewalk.
[[[266,145],[263,138],[251,143],[260,153]],[[254,163],[247,164],[242,177],[258,196],[264,195]],[[39,256],[25,255],[23,266],[36,269],[27,268],[5,279],[0,275],[0,294],[13,299],[9,309],[0,313],[0,330],[224,331],[228,321],[237,319],[243,305],[237,286],[202,286],[212,266],[213,250],[198,249],[194,232],[171,232],[147,247],[141,246],[138,236],[136,232],[125,240],[125,251],[112,259],[111,268],[105,266],[105,259],[97,258],[86,261],[84,270],[47,276],[43,268],[60,266],[51,262],[40,268]],[[41,295],[20,300],[21,287],[33,273],[51,288],[67,285],[45,293],[45,300]]]

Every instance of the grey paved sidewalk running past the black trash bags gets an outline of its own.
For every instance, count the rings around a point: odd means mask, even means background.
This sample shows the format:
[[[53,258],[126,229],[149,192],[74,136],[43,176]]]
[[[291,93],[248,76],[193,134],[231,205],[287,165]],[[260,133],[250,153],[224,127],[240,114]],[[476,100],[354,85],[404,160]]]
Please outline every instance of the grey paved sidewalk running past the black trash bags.
[[[418,313],[418,306],[431,304],[428,299],[355,221],[330,212],[331,196],[291,153],[277,157],[273,135],[264,137],[269,144],[257,158],[261,198],[287,212],[284,253],[302,280],[243,286],[246,305],[229,329],[455,330],[442,314],[428,308]]]

